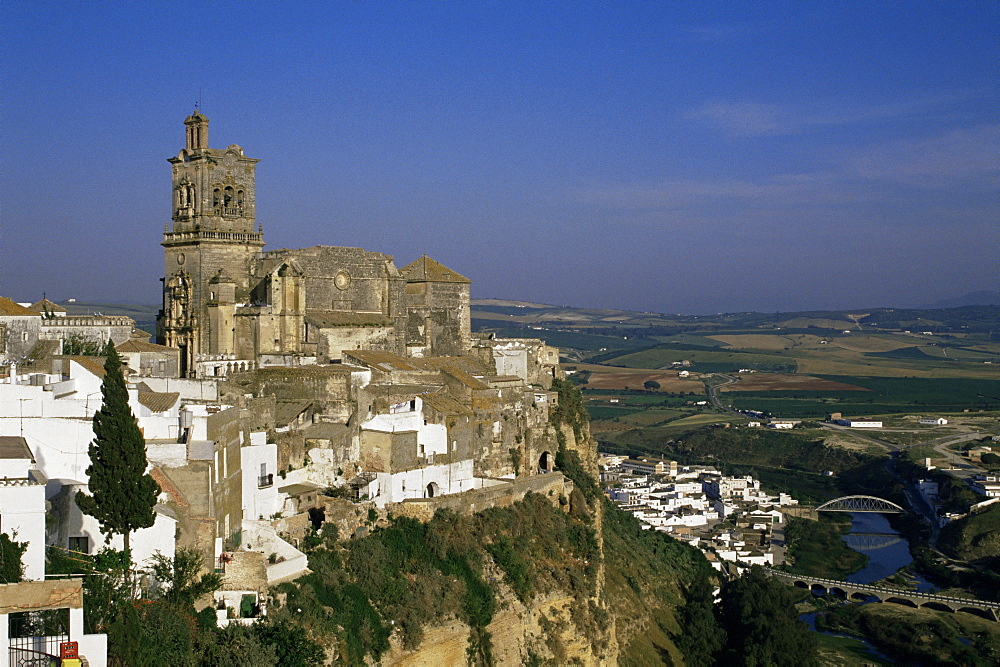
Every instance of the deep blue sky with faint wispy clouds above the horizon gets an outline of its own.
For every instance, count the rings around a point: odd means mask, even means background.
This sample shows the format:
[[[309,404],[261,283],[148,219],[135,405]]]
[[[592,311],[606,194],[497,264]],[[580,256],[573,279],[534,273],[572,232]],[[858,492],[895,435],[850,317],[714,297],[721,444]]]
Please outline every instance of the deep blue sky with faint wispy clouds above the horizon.
[[[0,294],[159,302],[201,100],[269,248],[474,298],[926,304],[1000,280],[997,2],[0,3]]]

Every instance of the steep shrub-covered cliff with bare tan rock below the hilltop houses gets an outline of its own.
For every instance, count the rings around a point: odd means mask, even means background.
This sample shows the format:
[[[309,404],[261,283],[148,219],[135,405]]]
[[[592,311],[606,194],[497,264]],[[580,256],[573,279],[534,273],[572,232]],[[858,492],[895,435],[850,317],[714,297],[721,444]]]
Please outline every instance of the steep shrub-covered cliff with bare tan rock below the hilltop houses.
[[[683,662],[675,610],[707,563],[606,500],[575,388],[560,407],[544,436],[556,472],[542,477],[567,483],[423,521],[371,512],[370,533],[349,540],[330,523],[306,538],[312,572],[278,587],[273,620],[348,664]]]

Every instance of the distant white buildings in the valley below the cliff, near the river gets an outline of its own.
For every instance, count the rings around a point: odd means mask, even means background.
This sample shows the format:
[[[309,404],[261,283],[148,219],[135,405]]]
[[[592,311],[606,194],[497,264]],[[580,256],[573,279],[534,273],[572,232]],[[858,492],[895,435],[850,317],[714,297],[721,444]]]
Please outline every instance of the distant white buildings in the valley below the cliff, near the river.
[[[669,533],[723,561],[775,565],[784,560],[781,507],[798,504],[773,496],[747,475],[723,475],[711,466],[601,455],[605,493],[649,530]]]

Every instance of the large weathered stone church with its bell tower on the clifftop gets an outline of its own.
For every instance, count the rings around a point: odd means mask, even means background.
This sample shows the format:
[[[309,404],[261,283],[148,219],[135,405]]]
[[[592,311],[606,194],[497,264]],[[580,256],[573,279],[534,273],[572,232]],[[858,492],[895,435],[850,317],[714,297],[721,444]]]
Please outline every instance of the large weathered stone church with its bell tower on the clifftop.
[[[461,356],[470,341],[469,280],[426,255],[397,268],[360,248],[264,248],[258,160],[209,148],[208,118],[184,121],[169,158],[173,215],[164,229],[158,342],[181,351],[182,376],[203,359],[327,363],[345,351]]]

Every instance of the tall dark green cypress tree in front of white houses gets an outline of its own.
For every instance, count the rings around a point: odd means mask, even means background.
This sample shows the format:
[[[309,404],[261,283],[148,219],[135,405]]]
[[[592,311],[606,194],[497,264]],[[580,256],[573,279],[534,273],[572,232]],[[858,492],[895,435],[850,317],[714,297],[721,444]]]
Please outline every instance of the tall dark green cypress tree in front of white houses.
[[[76,504],[100,522],[102,533],[121,535],[131,559],[129,535],[153,525],[160,485],[146,474],[146,442],[129,407],[121,358],[112,341],[104,354],[103,402],[94,413],[94,441],[87,468],[93,495],[80,491]]]

